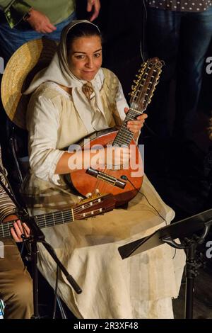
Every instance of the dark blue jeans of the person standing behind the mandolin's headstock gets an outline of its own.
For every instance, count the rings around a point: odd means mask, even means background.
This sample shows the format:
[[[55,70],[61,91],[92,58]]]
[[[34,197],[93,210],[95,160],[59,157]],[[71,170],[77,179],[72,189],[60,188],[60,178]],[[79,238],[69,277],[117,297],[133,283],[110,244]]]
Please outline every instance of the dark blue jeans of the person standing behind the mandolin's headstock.
[[[153,109],[155,130],[161,136],[168,135],[170,82],[175,77],[174,131],[187,136],[192,132],[212,37],[212,8],[200,13],[148,8],[147,34],[149,56],[165,61],[153,104],[148,108]]]

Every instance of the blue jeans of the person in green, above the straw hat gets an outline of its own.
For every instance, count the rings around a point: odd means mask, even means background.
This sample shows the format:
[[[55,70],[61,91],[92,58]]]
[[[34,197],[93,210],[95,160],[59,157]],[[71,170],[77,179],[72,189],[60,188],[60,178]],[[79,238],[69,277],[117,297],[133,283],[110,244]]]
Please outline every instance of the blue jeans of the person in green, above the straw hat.
[[[64,26],[76,19],[76,13],[73,12],[68,18],[66,18],[66,20],[58,23],[56,25],[57,30],[52,33],[37,33],[25,22],[21,22],[15,28],[11,29],[2,14],[1,16],[3,23],[0,24],[0,48],[5,64],[18,47],[30,40],[46,37],[59,41],[61,30]]]

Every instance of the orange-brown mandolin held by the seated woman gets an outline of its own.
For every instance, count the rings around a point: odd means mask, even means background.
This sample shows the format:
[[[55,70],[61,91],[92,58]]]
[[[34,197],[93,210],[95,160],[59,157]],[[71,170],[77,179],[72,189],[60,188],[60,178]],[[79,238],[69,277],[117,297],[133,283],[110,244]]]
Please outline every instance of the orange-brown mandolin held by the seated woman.
[[[141,188],[143,181],[143,162],[139,148],[133,139],[133,133],[126,127],[129,120],[136,118],[146,110],[151,102],[155,86],[161,73],[163,62],[157,57],[144,62],[139,69],[137,79],[131,90],[130,108],[119,130],[110,128],[100,132],[94,132],[88,139],[78,142],[82,149],[94,149],[95,147],[107,147],[107,145],[130,146],[131,159],[127,166],[119,166],[119,169],[76,169],[70,174],[71,183],[83,196],[88,193],[112,193],[115,198],[115,206],[123,205],[130,201]]]

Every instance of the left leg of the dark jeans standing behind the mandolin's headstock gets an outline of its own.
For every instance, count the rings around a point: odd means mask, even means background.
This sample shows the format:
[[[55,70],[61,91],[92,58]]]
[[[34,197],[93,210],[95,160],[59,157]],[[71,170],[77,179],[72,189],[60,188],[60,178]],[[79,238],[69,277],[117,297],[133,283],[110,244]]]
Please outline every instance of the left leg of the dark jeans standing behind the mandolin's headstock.
[[[181,13],[163,9],[148,9],[147,47],[149,57],[159,57],[165,62],[153,101],[148,106],[147,122],[160,137],[168,137],[168,99],[170,81],[175,76],[179,49]]]

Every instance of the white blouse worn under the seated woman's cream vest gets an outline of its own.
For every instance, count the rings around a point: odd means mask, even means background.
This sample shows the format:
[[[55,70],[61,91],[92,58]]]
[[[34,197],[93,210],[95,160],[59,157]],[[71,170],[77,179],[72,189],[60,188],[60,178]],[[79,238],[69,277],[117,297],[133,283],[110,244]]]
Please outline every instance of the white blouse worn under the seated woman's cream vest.
[[[61,89],[58,84],[54,82],[49,82],[48,84],[53,89],[59,91],[59,96],[63,95],[65,98],[68,98],[71,107],[70,95],[64,89]],[[120,118],[124,120],[124,108],[129,108],[129,106],[126,103],[120,83],[116,96],[116,104]],[[88,112],[88,123],[91,123],[92,117],[93,115]],[[57,185],[59,184],[59,175],[54,174],[54,172],[61,155],[64,154],[63,150],[57,149],[59,122],[59,110],[55,107],[51,98],[48,98],[45,94],[40,94],[33,107],[31,104],[30,108],[28,108],[27,128],[29,132],[30,167],[33,169],[35,176],[45,181],[52,181]],[[101,127],[95,129],[93,127],[88,128],[87,126],[86,128],[88,134],[95,130],[104,129]]]

